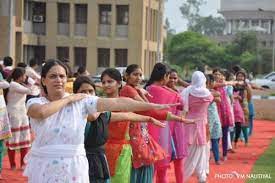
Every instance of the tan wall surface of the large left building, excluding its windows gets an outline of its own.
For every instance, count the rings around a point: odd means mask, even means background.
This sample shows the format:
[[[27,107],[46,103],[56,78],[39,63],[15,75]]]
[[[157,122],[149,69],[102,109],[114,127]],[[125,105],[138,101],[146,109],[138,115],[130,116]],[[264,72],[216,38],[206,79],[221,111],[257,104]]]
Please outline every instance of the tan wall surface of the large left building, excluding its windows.
[[[1,1],[4,2],[4,1]],[[8,2],[8,1],[7,1]],[[5,3],[7,4],[5,1]],[[74,48],[84,47],[87,50],[86,63],[87,68],[91,73],[98,72],[97,65],[97,49],[110,49],[110,67],[115,67],[115,49],[128,49],[128,65],[139,64],[145,75],[148,76],[152,66],[157,61],[156,53],[158,48],[162,52],[162,36],[158,42],[155,38],[159,33],[162,35],[162,28],[160,32],[158,27],[162,27],[162,21],[158,22],[157,16],[159,10],[159,1],[157,0],[35,0],[34,2],[46,3],[45,18],[45,34],[33,33],[34,23],[31,17],[29,20],[24,18],[24,2],[23,0],[14,0],[14,58],[17,62],[28,62],[25,53],[29,52],[24,47],[29,46],[45,46],[45,59],[57,57],[57,47],[69,48],[70,64],[74,66]],[[58,33],[58,6],[57,3],[70,3],[70,18],[68,25],[68,35],[60,35]],[[86,36],[75,36],[75,4],[87,4],[87,24]],[[99,36],[99,4],[111,4],[111,33],[110,36]],[[129,23],[128,23],[128,37],[116,36],[116,5],[129,5]],[[5,6],[5,5],[4,5]],[[149,7],[150,6],[150,7]],[[3,7],[3,6],[0,6]],[[147,8],[146,8],[147,7]],[[163,12],[163,7],[160,8]],[[151,11],[151,18],[146,16],[146,11]],[[162,15],[162,13],[160,14]],[[162,18],[162,17],[161,17]],[[1,27],[6,27],[7,18],[1,17]],[[158,23],[160,23],[158,25]],[[39,24],[41,25],[41,24]],[[4,44],[0,45],[0,57],[6,55],[8,30],[1,29],[0,36],[5,38]],[[147,39],[146,31],[152,32],[154,40]],[[1,38],[1,37],[0,37]],[[16,46],[15,46],[16,45]],[[159,45],[159,46],[158,46]],[[32,51],[31,51],[32,52]],[[147,55],[146,52],[148,52]],[[149,54],[150,53],[150,54]]]

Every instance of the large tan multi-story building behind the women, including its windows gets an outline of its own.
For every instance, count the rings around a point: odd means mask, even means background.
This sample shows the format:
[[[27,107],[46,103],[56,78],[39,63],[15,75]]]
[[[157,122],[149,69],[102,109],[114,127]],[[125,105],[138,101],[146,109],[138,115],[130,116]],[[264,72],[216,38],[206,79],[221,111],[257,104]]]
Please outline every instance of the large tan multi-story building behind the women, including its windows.
[[[91,73],[162,54],[163,0],[1,0],[0,59],[68,59]]]

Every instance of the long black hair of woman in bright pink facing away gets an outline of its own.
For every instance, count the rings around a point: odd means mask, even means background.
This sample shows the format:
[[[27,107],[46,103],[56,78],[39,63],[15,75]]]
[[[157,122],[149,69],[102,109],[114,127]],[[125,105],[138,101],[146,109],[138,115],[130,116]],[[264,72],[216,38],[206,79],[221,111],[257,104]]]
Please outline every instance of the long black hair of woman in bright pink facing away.
[[[170,68],[168,67],[168,65],[163,63],[156,63],[151,73],[150,79],[146,83],[144,88],[147,88],[148,86],[153,84],[155,81],[163,80],[165,75],[169,73],[170,73]]]

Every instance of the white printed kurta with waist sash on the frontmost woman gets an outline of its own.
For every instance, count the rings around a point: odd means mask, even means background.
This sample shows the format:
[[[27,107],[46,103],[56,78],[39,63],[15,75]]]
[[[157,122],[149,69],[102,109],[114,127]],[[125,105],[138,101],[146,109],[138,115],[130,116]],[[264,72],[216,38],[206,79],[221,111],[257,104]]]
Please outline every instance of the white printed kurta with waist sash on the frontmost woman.
[[[87,115],[96,112],[97,100],[98,97],[90,96],[63,107],[46,119],[30,118],[35,140],[25,158],[24,171],[30,183],[89,182],[84,130]],[[44,97],[32,98],[27,108],[47,103]]]

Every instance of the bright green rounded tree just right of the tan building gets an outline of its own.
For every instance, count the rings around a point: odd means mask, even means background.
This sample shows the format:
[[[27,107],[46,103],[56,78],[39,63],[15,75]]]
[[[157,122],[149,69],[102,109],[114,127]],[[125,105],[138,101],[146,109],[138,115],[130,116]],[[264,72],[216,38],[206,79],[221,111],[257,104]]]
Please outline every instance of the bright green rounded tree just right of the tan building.
[[[190,69],[216,65],[222,61],[223,55],[222,47],[191,31],[176,34],[168,45],[169,62]]]

